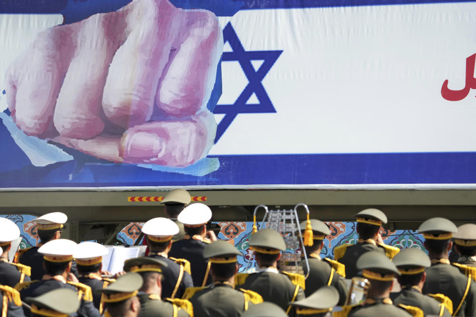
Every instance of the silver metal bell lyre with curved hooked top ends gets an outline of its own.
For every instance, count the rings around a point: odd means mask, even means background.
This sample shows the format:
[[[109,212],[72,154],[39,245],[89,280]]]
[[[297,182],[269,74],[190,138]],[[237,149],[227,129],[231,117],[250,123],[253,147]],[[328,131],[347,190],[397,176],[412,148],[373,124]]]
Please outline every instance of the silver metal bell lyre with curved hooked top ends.
[[[297,217],[297,208],[304,207],[306,212],[309,213],[309,209],[306,204],[297,204],[292,210],[268,210],[265,205],[256,206],[253,212],[253,216],[256,216],[256,211],[260,208],[264,208],[266,211],[263,220],[260,224],[260,229],[263,228],[265,222],[266,228],[273,229],[281,233],[286,243],[286,249],[291,249],[293,252],[284,252],[281,255],[281,259],[278,262],[280,271],[287,271],[291,273],[303,274],[304,270],[299,263],[302,258],[300,254],[296,253],[299,248],[299,242],[301,243],[301,253],[304,254],[305,264],[307,266],[306,278],[309,275],[309,262],[307,260],[306,249],[302,240],[301,230],[299,228],[299,218]]]

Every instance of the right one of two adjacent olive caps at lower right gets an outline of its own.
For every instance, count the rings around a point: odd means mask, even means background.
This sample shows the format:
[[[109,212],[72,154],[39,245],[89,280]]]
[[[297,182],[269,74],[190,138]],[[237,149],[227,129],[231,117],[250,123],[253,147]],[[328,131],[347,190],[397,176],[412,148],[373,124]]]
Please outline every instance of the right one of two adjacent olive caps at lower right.
[[[407,248],[400,251],[393,259],[400,273],[404,275],[419,274],[425,267],[431,266],[430,258],[418,248]]]

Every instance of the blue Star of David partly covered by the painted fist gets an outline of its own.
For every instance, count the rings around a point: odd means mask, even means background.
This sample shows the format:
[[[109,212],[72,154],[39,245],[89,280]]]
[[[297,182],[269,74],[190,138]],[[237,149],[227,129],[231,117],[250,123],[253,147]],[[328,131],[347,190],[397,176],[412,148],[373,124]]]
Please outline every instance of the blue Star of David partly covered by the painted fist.
[[[237,117],[238,113],[276,112],[276,109],[264,89],[262,80],[274,65],[279,55],[283,53],[283,51],[245,51],[230,22],[228,22],[225,29],[223,29],[223,41],[224,44],[227,42],[230,44],[233,52],[224,52],[222,55],[222,62],[238,61],[246,79],[248,80],[248,84],[233,105],[217,105],[213,110],[213,113],[225,114],[218,124],[215,143],[221,138],[223,133],[225,133],[227,128]],[[257,70],[255,70],[251,63],[252,60],[263,60],[263,63]],[[256,95],[259,104],[246,104],[253,93]]]

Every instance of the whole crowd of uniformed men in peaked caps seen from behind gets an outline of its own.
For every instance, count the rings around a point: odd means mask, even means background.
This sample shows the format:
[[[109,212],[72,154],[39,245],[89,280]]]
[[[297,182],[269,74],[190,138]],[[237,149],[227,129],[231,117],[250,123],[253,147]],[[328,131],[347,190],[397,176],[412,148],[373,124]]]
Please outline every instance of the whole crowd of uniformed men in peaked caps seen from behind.
[[[39,245],[20,250],[16,263],[9,263],[20,231],[0,218],[1,317],[476,316],[475,224],[424,221],[418,232],[426,255],[385,245],[379,229],[386,215],[366,209],[356,215],[357,244],[336,247],[331,260],[320,256],[328,226],[308,219],[301,223],[301,247],[309,258],[304,278],[279,269],[286,251],[280,233],[253,233],[249,248],[258,269],[238,273],[242,254],[206,230],[212,217],[207,206],[188,205],[184,190],[170,192],[163,203],[168,218],[151,219],[142,228],[147,255],[127,260],[115,279],[103,277],[109,274],[101,269],[106,247],[60,238],[67,221],[61,212],[33,220]],[[346,305],[353,296],[346,279],[354,277],[366,279],[366,295]],[[391,292],[395,280],[399,292]]]

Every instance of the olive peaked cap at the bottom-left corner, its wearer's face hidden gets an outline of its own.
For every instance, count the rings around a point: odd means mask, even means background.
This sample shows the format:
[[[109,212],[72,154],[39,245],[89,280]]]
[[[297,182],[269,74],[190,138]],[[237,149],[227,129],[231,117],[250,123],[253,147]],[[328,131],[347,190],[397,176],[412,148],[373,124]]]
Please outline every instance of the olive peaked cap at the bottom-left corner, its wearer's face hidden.
[[[78,294],[69,288],[57,288],[37,297],[27,297],[25,302],[31,305],[31,312],[37,315],[44,315],[42,310],[71,315],[76,313],[81,304]]]

